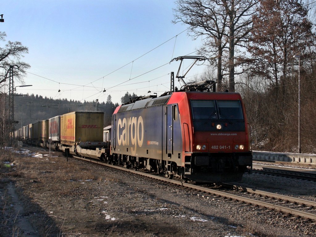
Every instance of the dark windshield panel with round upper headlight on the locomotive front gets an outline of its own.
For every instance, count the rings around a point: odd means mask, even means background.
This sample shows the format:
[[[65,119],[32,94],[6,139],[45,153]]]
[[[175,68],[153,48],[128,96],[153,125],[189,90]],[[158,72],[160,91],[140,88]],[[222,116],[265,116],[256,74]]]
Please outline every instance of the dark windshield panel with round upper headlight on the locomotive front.
[[[238,100],[191,100],[195,131],[244,131],[244,117]]]

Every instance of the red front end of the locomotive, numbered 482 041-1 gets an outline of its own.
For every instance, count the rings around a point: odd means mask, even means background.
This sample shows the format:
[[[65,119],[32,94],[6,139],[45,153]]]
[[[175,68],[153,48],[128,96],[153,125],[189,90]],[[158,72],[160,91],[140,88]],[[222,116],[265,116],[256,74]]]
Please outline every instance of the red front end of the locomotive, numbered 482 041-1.
[[[179,174],[199,182],[241,179],[252,167],[252,153],[240,95],[174,92],[168,104],[175,103],[182,129]]]

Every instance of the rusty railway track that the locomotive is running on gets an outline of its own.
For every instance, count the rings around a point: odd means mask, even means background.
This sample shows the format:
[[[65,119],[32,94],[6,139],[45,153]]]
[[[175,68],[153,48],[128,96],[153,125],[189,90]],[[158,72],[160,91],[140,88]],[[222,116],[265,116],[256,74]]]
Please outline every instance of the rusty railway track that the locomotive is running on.
[[[120,166],[109,165],[97,160],[91,160],[77,156],[74,156],[74,158],[119,169],[125,172],[131,172],[144,177],[157,179],[161,182],[179,185],[192,190],[199,196],[203,196],[206,198],[236,200],[239,203],[249,203],[267,209],[279,211],[285,215],[293,215],[301,217],[303,219],[311,220],[312,222],[316,222],[316,202],[294,198],[290,196],[279,195],[275,193],[269,193],[260,190],[253,190],[246,187],[234,186],[230,184],[222,184],[223,186],[229,187],[229,190],[216,190],[210,188],[207,185],[199,186],[196,184],[184,183],[180,180],[168,179],[165,177],[156,176],[149,173],[143,173],[135,170],[126,169]]]

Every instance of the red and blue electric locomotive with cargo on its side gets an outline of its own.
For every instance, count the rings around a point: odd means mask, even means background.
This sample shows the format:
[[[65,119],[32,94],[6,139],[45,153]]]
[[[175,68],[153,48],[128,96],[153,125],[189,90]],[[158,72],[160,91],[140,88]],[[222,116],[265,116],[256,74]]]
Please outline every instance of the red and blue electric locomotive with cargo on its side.
[[[117,107],[106,159],[170,178],[240,180],[252,169],[247,125],[240,94],[215,92],[210,80],[185,84],[161,97],[137,97]]]

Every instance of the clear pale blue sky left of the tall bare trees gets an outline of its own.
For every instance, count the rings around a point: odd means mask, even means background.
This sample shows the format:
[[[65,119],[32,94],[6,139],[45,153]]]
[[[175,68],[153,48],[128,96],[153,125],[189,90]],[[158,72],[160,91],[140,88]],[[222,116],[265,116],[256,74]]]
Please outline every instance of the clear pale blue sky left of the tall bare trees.
[[[31,68],[24,81],[33,86],[18,87],[17,93],[99,102],[110,94],[113,103],[126,91],[162,94],[170,87],[169,73],[179,67],[179,62],[167,63],[201,45],[187,36],[187,25],[171,22],[174,7],[168,0],[3,1],[0,31],[6,32],[7,41],[29,48],[23,61]],[[185,67],[190,63],[185,61]],[[204,66],[196,66],[187,76],[203,71]]]

